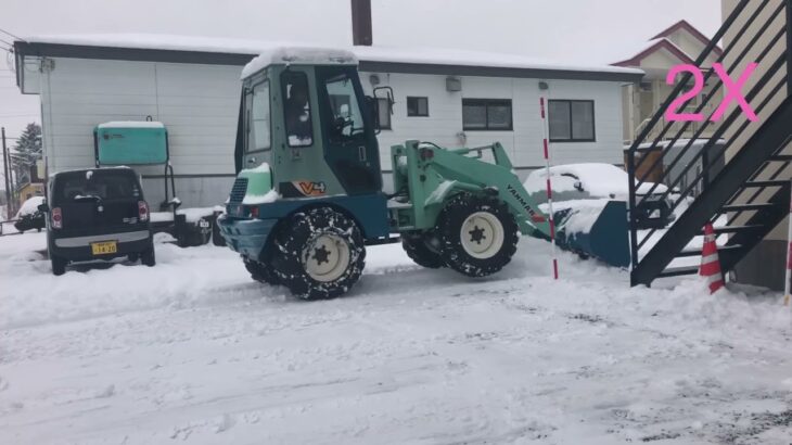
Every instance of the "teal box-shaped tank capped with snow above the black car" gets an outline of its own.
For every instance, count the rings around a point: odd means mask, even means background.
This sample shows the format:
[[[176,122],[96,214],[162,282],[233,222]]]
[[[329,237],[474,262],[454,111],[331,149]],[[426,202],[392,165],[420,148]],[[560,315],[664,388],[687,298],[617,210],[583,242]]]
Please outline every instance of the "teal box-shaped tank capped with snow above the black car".
[[[99,165],[152,165],[168,161],[168,136],[158,122],[108,122],[94,129]]]

